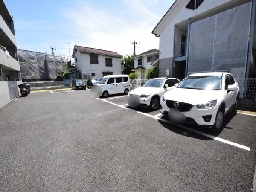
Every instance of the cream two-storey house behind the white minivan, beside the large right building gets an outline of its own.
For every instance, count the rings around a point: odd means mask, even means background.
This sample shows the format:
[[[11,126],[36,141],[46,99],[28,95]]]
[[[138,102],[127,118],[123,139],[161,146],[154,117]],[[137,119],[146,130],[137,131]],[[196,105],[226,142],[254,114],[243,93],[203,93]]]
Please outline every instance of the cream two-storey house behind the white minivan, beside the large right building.
[[[158,49],[151,49],[134,56],[134,69],[132,71],[139,74],[137,79],[146,79],[148,70],[152,68],[153,64],[158,64],[158,58]]]

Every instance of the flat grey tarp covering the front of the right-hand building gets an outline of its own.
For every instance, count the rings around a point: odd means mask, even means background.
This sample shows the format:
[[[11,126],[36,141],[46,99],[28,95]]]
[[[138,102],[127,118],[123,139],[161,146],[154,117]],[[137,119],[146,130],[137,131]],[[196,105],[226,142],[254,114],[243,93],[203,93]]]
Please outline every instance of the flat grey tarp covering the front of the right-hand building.
[[[188,75],[227,71],[245,78],[251,6],[246,3],[191,24]]]

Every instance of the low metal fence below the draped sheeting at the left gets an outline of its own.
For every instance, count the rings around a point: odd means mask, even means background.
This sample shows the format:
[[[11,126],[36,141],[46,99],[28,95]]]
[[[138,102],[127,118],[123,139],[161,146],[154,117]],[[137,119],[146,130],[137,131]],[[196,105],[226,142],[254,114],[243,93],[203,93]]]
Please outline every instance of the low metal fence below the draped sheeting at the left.
[[[41,89],[41,88],[63,88],[71,87],[71,81],[38,81],[38,82],[24,82],[29,84],[32,89]]]

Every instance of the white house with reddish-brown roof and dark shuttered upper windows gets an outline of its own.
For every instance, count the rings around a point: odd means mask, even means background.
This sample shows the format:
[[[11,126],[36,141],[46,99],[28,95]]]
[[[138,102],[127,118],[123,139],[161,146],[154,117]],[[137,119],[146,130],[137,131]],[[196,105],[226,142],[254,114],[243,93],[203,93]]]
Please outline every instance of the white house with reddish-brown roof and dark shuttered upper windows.
[[[117,52],[75,45],[72,57],[82,79],[102,79],[121,74],[121,57]]]

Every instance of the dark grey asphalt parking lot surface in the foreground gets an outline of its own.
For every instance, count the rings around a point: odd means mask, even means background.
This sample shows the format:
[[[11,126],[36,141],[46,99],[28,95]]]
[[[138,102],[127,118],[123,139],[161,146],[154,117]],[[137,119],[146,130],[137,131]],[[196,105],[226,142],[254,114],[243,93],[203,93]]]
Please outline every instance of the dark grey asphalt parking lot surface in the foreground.
[[[250,192],[255,125],[237,113],[212,133],[123,95],[31,93],[0,109],[0,191]]]

